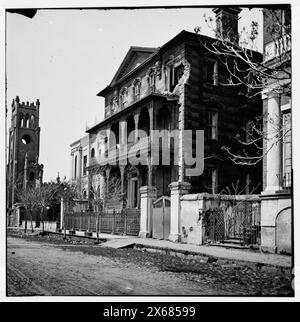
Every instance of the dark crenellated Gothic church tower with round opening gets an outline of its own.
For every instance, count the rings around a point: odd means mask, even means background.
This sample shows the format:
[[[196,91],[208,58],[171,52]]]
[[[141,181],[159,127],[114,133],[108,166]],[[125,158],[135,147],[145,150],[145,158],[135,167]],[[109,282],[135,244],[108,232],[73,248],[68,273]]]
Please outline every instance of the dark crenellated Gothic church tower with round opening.
[[[38,163],[40,146],[40,102],[12,102],[7,168],[7,202],[11,208],[18,202],[16,189],[41,183],[43,165]]]

